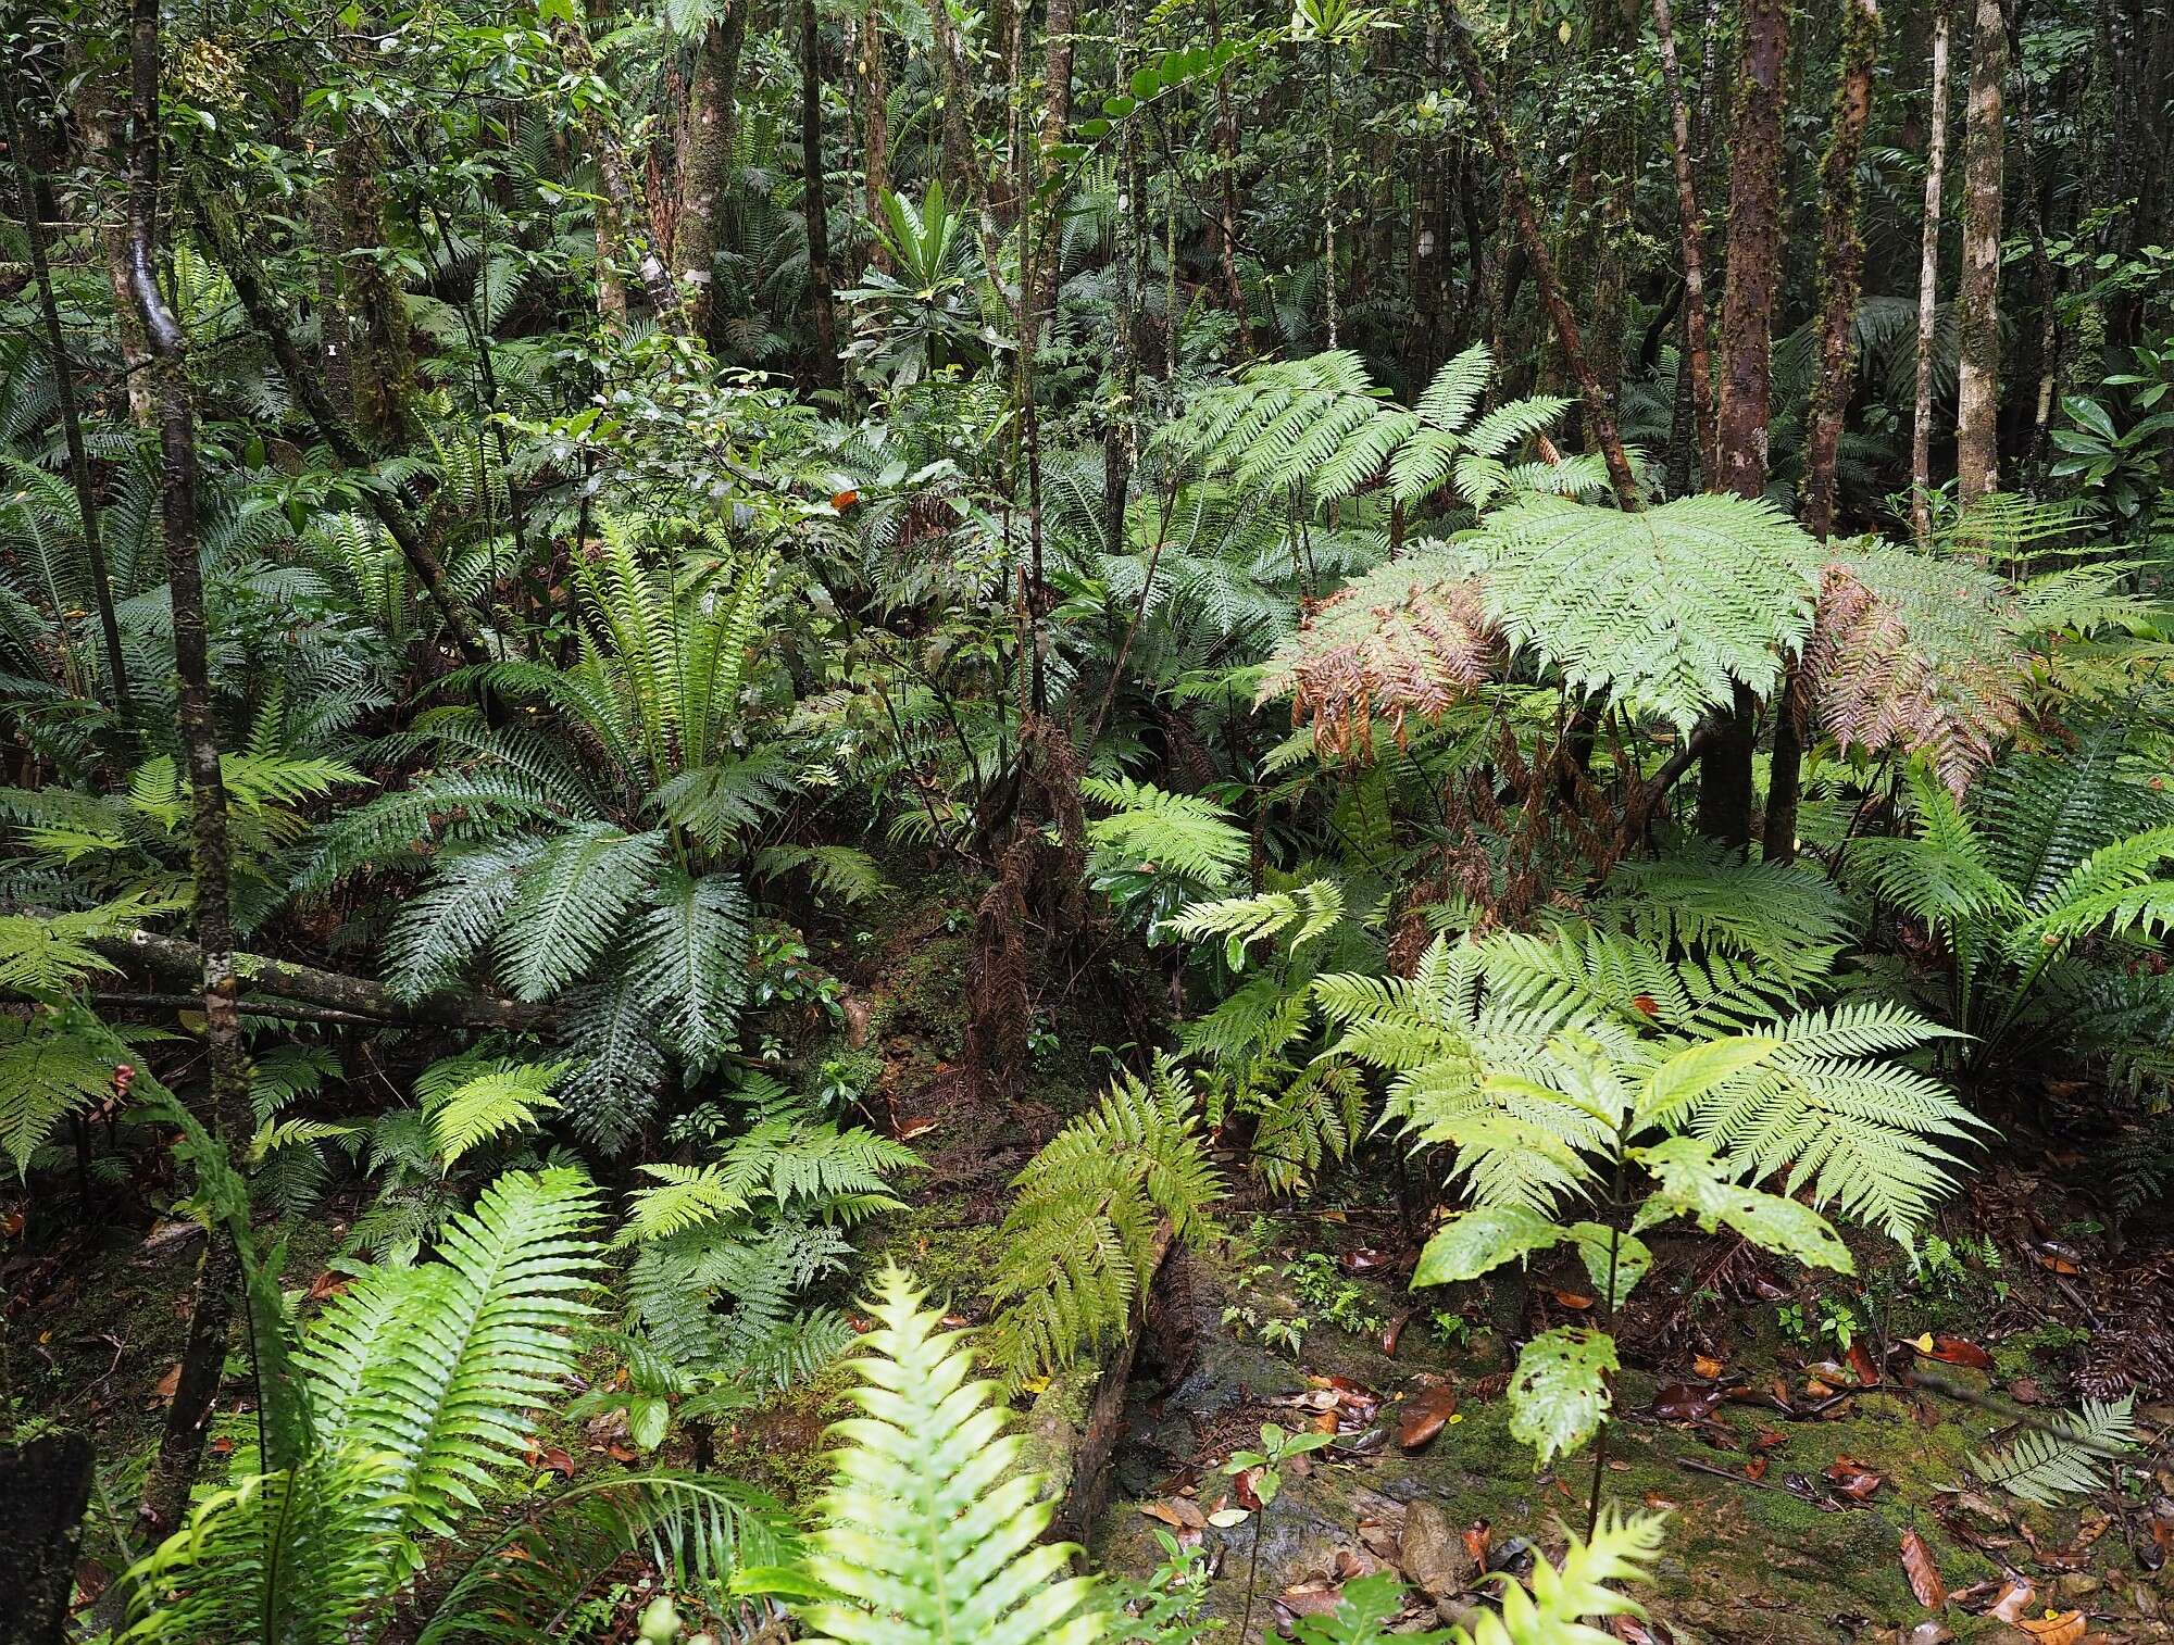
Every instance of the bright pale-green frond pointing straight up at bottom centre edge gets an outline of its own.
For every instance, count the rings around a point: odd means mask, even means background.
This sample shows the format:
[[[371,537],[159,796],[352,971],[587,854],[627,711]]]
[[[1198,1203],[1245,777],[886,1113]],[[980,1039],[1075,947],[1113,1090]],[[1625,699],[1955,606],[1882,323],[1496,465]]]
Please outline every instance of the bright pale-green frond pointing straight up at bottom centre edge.
[[[1017,1467],[994,1384],[898,1269],[870,1304],[854,1360],[861,1417],[837,1426],[837,1476],[807,1575],[830,1597],[802,1608],[830,1645],[1096,1645],[1111,1628],[1096,1589],[1044,1543],[1054,1504]]]

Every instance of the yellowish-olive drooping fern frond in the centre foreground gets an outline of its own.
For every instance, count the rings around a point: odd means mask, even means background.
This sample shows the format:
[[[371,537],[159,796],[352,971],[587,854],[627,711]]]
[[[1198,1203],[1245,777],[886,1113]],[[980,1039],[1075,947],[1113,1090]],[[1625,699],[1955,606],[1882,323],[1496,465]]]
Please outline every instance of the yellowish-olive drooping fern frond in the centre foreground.
[[[1167,1058],[1152,1082],[1120,1076],[1013,1182],[989,1295],[987,1352],[1007,1376],[1057,1371],[1120,1332],[1152,1278],[1157,1228],[1194,1241],[1222,1182]]]

